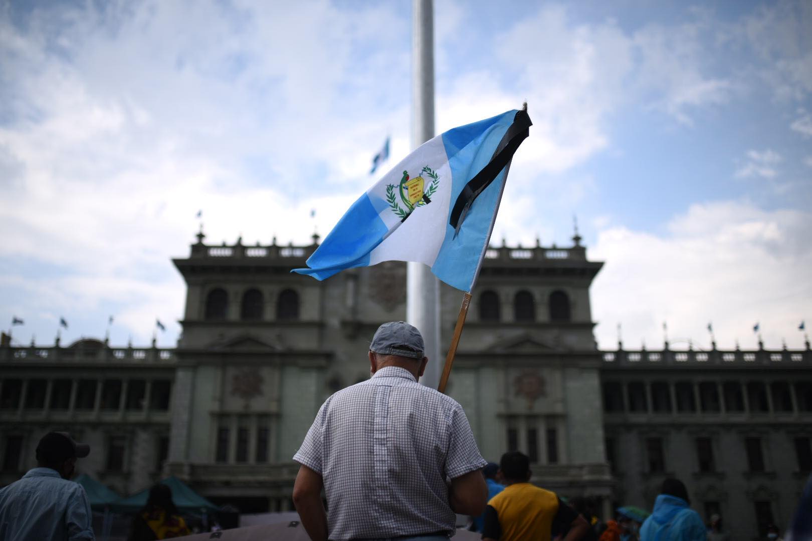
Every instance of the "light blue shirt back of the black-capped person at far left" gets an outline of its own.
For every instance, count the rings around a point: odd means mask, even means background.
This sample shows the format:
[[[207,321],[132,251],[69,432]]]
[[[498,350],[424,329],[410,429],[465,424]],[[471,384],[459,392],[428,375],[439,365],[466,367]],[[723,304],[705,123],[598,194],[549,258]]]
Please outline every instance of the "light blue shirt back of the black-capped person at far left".
[[[88,497],[56,470],[34,468],[0,489],[0,541],[95,539]]]

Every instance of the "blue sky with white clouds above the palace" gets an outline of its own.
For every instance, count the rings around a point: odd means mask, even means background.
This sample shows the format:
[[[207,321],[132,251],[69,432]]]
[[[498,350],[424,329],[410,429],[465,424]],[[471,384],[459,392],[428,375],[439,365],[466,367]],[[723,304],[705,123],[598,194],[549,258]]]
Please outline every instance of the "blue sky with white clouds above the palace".
[[[0,0],[0,328],[175,343],[211,243],[309,242],[409,150],[411,2]],[[436,0],[438,132],[529,102],[495,228],[591,259],[599,345],[802,346],[812,3]],[[310,210],[316,216],[310,217]]]

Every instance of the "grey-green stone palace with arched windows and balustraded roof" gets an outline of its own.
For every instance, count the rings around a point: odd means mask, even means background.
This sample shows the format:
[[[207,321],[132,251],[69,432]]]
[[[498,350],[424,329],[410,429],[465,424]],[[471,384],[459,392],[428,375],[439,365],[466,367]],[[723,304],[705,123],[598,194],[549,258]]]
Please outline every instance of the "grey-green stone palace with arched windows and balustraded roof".
[[[405,317],[405,264],[316,281],[290,273],[317,247],[205,244],[174,260],[188,286],[174,349],[0,347],[0,485],[67,430],[122,494],[168,474],[243,512],[291,509],[291,457],[331,393],[369,377],[378,324]],[[538,243],[537,243],[538,244]],[[518,449],[563,496],[650,509],[676,475],[734,539],[788,523],[812,470],[812,352],[598,350],[590,284],[572,247],[491,247],[447,392],[482,454]],[[441,284],[443,347],[462,294]],[[443,359],[432,359],[443,363]]]

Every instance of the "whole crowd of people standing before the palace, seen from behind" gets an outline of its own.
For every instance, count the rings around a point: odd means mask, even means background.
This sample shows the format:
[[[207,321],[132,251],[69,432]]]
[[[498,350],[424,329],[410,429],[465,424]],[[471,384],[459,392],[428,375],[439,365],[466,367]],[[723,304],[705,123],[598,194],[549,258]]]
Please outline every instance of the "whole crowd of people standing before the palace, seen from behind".
[[[300,464],[293,500],[313,541],[443,541],[456,533],[457,514],[473,517],[483,541],[732,541],[718,515],[702,522],[678,479],[663,482],[645,520],[621,508],[603,523],[593,501],[567,501],[530,483],[525,454],[486,462],[460,404],[417,383],[424,350],[417,328],[382,324],[369,344],[369,380],[318,410],[293,457]],[[66,432],[45,435],[37,467],[0,489],[0,541],[93,541],[88,496],[69,480],[89,452]],[[801,505],[812,507],[812,486]],[[797,513],[794,531],[809,531],[806,516]],[[170,487],[158,484],[128,541],[190,533]],[[779,535],[771,526],[767,538]]]

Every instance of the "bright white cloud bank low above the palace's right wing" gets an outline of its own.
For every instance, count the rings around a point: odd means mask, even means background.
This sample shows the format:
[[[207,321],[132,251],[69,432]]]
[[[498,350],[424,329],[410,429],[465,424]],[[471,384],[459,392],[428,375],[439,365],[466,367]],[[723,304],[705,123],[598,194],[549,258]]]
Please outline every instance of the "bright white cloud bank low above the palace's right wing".
[[[756,346],[762,324],[767,348],[782,339],[802,347],[800,320],[812,319],[812,214],[765,211],[752,204],[693,204],[667,234],[615,226],[600,231],[590,259],[606,262],[592,287],[596,335],[602,348],[660,347],[667,321],[672,342],[710,346],[713,322],[720,348]]]

